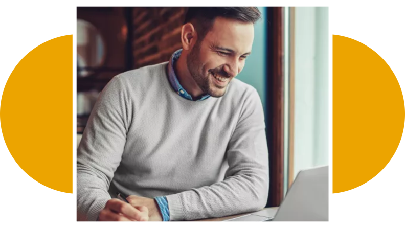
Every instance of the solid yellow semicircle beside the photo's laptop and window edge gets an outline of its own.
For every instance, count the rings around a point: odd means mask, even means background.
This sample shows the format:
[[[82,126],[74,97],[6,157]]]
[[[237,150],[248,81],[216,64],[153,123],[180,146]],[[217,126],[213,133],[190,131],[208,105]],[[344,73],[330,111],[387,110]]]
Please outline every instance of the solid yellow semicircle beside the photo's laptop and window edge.
[[[333,35],[333,193],[357,188],[384,169],[404,121],[401,88],[384,59]]]

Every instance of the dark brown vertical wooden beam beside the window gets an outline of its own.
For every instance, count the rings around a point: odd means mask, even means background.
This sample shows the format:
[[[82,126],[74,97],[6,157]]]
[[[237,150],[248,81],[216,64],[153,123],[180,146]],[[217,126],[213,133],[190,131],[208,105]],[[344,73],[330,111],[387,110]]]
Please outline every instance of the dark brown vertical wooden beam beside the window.
[[[270,188],[266,207],[278,207],[284,186],[284,8],[267,7],[267,142]]]

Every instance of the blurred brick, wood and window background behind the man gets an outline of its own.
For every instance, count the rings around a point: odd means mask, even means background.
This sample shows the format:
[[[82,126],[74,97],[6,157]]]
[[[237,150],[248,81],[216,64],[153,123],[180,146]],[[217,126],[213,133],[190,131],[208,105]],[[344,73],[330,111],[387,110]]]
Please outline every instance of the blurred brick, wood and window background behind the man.
[[[252,54],[237,76],[265,110],[270,189],[279,206],[297,173],[328,165],[328,7],[258,7]],[[111,78],[168,61],[187,7],[77,7],[77,144]]]

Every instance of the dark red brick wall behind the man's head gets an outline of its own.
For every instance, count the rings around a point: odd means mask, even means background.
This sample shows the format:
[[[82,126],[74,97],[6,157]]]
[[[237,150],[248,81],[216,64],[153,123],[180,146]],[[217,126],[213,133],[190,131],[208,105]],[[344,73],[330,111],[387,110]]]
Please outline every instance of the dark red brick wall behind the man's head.
[[[181,27],[187,7],[134,7],[134,69],[169,61],[182,48]]]

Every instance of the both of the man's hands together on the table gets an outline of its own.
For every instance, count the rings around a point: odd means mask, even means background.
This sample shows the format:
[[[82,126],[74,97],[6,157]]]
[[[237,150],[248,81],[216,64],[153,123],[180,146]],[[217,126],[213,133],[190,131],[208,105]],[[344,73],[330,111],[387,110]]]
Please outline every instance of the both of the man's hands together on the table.
[[[154,199],[130,195],[129,203],[110,199],[100,212],[99,221],[163,221],[158,204]]]

